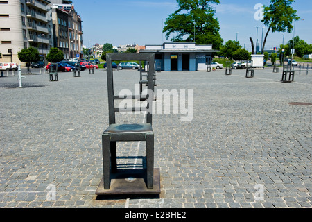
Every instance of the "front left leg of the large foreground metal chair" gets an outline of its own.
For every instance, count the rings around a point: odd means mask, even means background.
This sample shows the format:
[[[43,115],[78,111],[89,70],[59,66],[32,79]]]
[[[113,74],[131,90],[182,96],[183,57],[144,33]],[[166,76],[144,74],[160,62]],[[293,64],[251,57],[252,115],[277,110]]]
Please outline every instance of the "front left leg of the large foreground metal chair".
[[[110,189],[110,135],[102,135],[104,189]]]

